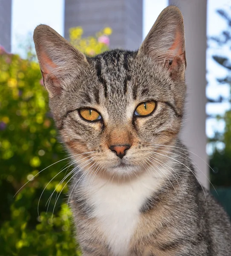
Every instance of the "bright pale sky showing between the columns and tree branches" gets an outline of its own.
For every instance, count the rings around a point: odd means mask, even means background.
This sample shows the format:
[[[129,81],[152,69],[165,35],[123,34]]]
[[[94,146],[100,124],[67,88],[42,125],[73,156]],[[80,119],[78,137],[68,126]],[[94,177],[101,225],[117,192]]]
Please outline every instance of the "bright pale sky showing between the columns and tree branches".
[[[167,6],[168,0],[144,0],[143,2],[143,38],[149,32],[159,13]],[[227,9],[231,0],[208,0],[207,36],[219,35],[225,28],[225,21],[216,13],[217,9]],[[61,35],[64,35],[64,0],[12,0],[12,52],[22,53],[19,42],[26,37],[31,37],[38,24],[47,24]],[[207,50],[207,75],[208,86],[206,94],[209,98],[229,95],[230,87],[218,85],[217,77],[223,77],[226,71],[222,69],[211,55],[224,54],[225,48],[213,47]],[[230,52],[230,50],[229,50]],[[226,52],[227,54],[227,52]],[[230,108],[226,103],[207,103],[208,114],[223,114]],[[207,119],[206,134],[212,137],[215,131],[224,130],[224,121]]]

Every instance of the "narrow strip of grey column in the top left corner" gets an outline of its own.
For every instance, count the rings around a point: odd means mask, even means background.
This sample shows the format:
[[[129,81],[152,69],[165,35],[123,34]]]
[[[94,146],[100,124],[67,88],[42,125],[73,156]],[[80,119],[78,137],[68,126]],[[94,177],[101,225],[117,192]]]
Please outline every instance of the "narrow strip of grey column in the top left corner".
[[[0,45],[11,51],[11,0],[0,0]]]

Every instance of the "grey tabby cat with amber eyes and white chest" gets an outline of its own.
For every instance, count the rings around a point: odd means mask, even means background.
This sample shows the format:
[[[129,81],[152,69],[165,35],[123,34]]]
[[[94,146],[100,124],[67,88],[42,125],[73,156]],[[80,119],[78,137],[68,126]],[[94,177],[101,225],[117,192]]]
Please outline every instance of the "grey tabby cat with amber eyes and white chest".
[[[138,51],[85,56],[39,25],[35,49],[61,140],[83,256],[228,256],[231,224],[179,139],[185,37],[176,6]]]

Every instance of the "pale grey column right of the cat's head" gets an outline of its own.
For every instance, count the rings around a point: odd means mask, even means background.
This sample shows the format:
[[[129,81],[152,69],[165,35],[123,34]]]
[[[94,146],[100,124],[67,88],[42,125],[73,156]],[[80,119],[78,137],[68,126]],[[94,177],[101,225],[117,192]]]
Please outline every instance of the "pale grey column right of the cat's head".
[[[206,87],[206,17],[207,0],[169,0],[182,11],[185,24],[186,47],[186,116],[182,125],[182,140],[188,150],[197,154],[205,162],[207,138],[205,134],[205,87]],[[197,169],[197,176],[203,186],[209,188],[209,169],[199,157],[191,154]]]

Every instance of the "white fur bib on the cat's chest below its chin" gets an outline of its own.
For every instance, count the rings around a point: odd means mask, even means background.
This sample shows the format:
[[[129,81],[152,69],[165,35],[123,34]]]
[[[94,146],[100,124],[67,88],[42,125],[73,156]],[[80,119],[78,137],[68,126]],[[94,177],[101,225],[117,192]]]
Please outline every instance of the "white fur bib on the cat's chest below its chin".
[[[169,170],[144,172],[139,178],[127,183],[116,183],[94,177],[86,184],[87,195],[94,205],[93,217],[99,221],[114,256],[125,256],[129,242],[139,223],[139,209],[145,199],[157,191]],[[158,179],[157,179],[158,178]],[[90,187],[89,187],[90,186]]]

